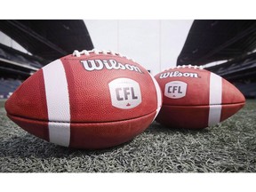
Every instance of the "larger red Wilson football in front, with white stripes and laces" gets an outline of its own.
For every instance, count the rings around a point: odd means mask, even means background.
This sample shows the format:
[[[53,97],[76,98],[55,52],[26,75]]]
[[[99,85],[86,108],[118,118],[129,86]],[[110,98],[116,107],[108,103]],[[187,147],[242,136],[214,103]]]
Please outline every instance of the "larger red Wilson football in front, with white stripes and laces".
[[[162,93],[140,64],[111,51],[75,51],[40,68],[6,101],[7,116],[70,148],[110,148],[154,121]]]

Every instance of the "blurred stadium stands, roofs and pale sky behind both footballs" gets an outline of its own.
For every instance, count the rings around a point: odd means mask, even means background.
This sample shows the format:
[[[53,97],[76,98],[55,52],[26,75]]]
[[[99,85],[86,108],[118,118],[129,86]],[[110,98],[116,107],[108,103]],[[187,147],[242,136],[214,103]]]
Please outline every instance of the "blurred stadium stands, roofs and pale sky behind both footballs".
[[[104,49],[152,75],[202,65],[256,98],[255,20],[0,20],[0,99],[74,50]]]

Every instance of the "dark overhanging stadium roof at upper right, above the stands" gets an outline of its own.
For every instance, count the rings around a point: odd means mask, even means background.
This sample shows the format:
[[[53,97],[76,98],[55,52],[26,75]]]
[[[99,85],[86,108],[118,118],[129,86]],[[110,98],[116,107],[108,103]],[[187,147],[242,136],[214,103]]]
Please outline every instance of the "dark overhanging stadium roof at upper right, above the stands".
[[[256,20],[195,20],[177,65],[230,60],[256,48]]]

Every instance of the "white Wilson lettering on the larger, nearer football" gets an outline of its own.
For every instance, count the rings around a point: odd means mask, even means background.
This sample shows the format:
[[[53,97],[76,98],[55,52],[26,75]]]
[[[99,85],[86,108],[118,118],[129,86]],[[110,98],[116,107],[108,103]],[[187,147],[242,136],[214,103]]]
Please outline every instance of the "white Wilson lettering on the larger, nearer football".
[[[108,70],[130,70],[130,71],[136,71],[139,73],[143,73],[139,67],[133,66],[131,64],[123,64],[120,62],[117,62],[116,60],[81,60],[80,61],[85,70],[87,71],[93,71],[93,70],[102,70],[103,68],[107,68]]]

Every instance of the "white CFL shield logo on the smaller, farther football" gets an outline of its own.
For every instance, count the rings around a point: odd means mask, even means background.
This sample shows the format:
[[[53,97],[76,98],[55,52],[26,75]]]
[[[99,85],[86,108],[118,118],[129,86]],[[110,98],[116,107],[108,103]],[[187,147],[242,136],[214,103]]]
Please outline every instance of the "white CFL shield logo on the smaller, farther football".
[[[187,84],[181,81],[172,81],[165,84],[164,95],[171,99],[180,99],[186,96]]]

